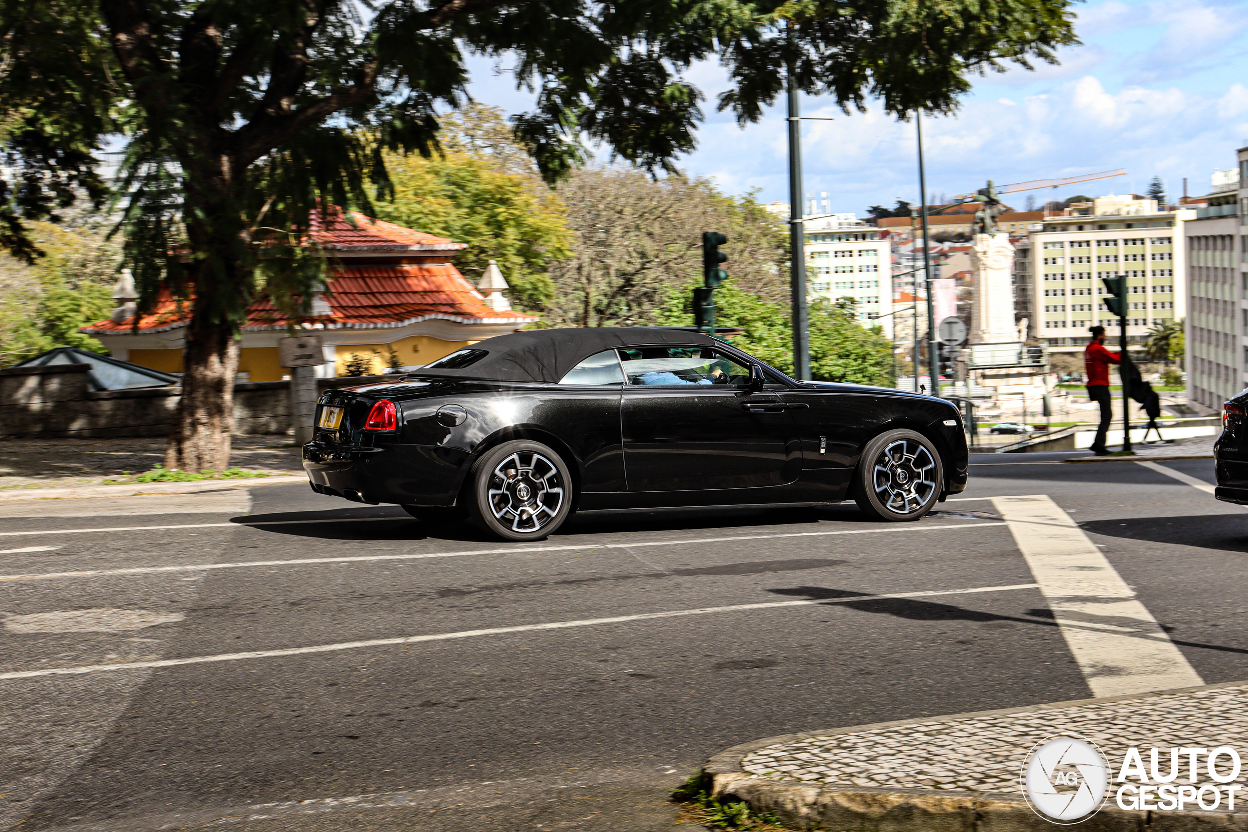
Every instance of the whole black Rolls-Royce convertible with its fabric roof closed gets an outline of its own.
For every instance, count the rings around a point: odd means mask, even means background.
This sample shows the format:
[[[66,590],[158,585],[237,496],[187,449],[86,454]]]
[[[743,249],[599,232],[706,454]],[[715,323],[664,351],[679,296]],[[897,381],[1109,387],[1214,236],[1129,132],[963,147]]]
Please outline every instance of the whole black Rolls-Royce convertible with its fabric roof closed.
[[[957,408],[797,382],[698,332],[539,329],[321,395],[313,490],[538,540],[577,510],[820,505],[917,520],[966,488]]]

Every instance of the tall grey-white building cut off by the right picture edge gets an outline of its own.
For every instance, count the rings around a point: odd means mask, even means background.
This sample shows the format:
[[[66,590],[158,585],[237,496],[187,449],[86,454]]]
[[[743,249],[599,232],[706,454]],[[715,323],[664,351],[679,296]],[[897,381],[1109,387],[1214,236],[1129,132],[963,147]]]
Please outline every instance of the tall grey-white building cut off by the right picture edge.
[[[1191,314],[1188,402],[1221,410],[1248,383],[1248,147],[1217,171],[1207,206],[1183,223]]]

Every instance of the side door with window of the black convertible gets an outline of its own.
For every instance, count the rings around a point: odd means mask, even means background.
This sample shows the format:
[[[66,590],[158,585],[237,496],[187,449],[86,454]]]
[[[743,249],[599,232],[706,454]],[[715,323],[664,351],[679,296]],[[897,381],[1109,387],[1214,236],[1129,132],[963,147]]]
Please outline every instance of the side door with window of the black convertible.
[[[750,370],[709,347],[618,351],[629,491],[765,488],[801,473],[794,420]]]

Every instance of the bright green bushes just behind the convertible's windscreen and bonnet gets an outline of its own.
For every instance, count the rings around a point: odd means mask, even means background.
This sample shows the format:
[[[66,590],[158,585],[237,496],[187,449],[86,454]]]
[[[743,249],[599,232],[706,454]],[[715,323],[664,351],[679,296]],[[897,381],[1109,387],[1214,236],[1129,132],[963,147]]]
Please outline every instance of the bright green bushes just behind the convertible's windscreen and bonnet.
[[[673,289],[661,307],[660,326],[691,326],[695,283]],[[852,303],[816,299],[809,307],[810,369],[815,380],[892,387],[892,342],[879,326],[866,329],[855,319]],[[733,281],[715,289],[715,324],[741,327],[733,338],[744,349],[784,373],[792,373],[792,324],[786,306],[769,303]]]

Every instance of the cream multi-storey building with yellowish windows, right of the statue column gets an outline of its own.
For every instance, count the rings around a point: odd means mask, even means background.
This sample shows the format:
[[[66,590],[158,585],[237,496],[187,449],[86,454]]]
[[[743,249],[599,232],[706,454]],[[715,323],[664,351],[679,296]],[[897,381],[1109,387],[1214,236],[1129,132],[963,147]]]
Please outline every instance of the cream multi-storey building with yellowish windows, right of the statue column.
[[[1159,211],[1154,200],[1134,196],[1071,208],[1071,216],[1046,217],[1031,233],[1032,332],[1048,352],[1081,352],[1096,324],[1117,343],[1118,318],[1102,303],[1102,277],[1127,278],[1128,343],[1143,343],[1152,327],[1186,317],[1182,225],[1196,211]]]

